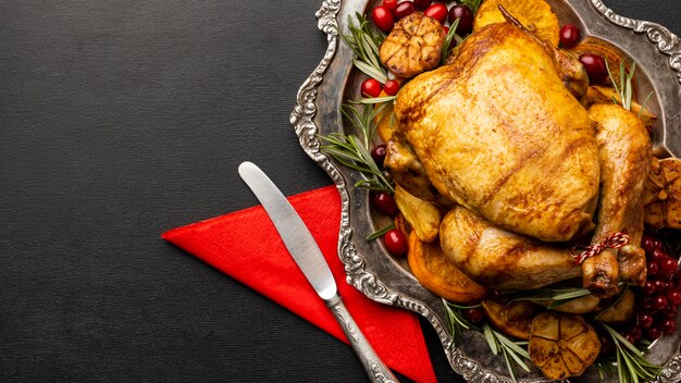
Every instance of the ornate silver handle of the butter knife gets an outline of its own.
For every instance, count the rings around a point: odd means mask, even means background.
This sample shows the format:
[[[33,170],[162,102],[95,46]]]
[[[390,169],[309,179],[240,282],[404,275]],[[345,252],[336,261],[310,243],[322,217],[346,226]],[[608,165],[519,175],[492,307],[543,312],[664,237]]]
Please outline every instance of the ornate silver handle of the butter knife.
[[[345,335],[350,342],[350,346],[355,349],[362,366],[364,366],[364,370],[371,382],[398,383],[397,378],[393,375],[391,369],[379,358],[376,351],[374,351],[369,341],[364,337],[364,334],[359,330],[357,323],[355,323],[355,320],[350,317],[350,312],[340,300],[340,297],[336,294],[336,296],[325,300],[325,302],[334,317],[336,317],[336,320],[340,324],[343,332],[345,332]]]

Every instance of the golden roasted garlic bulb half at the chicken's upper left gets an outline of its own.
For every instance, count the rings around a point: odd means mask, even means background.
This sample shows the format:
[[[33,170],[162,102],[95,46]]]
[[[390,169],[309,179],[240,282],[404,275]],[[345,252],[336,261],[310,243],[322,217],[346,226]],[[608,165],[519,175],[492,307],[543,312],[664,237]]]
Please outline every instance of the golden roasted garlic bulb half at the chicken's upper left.
[[[439,22],[414,12],[395,24],[379,54],[391,73],[409,78],[437,66],[444,40]]]

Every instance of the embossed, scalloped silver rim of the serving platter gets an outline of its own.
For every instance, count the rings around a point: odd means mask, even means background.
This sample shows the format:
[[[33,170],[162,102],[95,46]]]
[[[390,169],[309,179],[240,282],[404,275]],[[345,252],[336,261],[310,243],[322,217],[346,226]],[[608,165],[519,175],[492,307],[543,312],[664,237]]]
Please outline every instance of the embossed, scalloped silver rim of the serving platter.
[[[577,0],[568,0],[568,2],[572,1]],[[681,41],[674,34],[656,23],[618,15],[611,9],[607,8],[602,0],[579,1],[589,2],[608,23],[611,23],[611,26],[629,29],[635,34],[646,35],[647,40],[655,45],[660,58],[667,60],[668,70],[676,74],[678,81],[677,85],[681,84]],[[368,2],[367,0],[360,1],[361,9],[363,9]],[[348,178],[348,175],[345,174],[347,171],[338,166],[337,163],[320,151],[321,144],[317,136],[325,128],[325,124],[334,122],[334,118],[329,118],[327,115],[320,116],[320,110],[322,110],[323,107],[321,106],[322,101],[320,101],[319,90],[324,81],[337,81],[337,77],[329,79],[327,71],[338,50],[340,40],[338,35],[338,16],[343,7],[358,7],[358,4],[357,1],[354,3],[349,0],[325,0],[320,10],[315,13],[318,28],[326,34],[329,45],[319,65],[301,85],[289,121],[294,126],[304,151],[331,176],[340,194],[342,217],[338,237],[338,256],[345,264],[347,282],[373,300],[406,308],[425,317],[441,338],[451,368],[468,382],[510,382],[508,376],[498,371],[485,369],[480,360],[471,357],[468,353],[455,345],[449,331],[444,324],[443,313],[439,312],[437,307],[433,306],[432,300],[425,301],[425,299],[414,298],[413,294],[401,292],[400,288],[395,288],[394,284],[391,285],[386,283],[386,281],[382,281],[376,275],[375,270],[368,265],[367,259],[362,252],[358,250],[358,244],[352,238],[351,205],[357,190],[346,181]],[[336,88],[344,86],[344,84],[334,85]],[[336,116],[335,122],[338,121]],[[678,118],[673,123],[678,123]],[[363,240],[363,238],[360,240]],[[392,267],[395,265],[393,264]],[[403,282],[413,283],[413,281]],[[519,381],[536,383],[547,382],[545,379],[536,376],[520,379]],[[671,353],[668,362],[656,381],[669,383],[681,381],[681,355],[678,346],[677,349]]]

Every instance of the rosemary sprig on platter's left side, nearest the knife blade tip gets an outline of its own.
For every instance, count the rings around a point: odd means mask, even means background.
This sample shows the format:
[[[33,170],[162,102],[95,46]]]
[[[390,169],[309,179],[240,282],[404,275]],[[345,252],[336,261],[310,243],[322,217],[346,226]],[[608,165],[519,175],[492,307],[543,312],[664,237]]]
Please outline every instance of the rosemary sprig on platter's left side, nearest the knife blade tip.
[[[355,183],[355,187],[395,193],[392,183],[381,172],[371,153],[357,136],[331,133],[326,136],[320,136],[320,138],[329,144],[321,147],[324,153],[367,176],[366,180]]]

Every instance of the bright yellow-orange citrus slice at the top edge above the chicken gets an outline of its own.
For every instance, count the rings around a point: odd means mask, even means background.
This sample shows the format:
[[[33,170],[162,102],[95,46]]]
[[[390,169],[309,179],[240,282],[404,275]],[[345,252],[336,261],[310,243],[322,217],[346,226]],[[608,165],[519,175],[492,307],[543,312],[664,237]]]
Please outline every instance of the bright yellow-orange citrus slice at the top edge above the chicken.
[[[485,25],[506,22],[499,5],[536,37],[549,41],[554,47],[558,46],[560,23],[554,10],[544,0],[485,0],[475,14],[473,32],[480,30]]]

